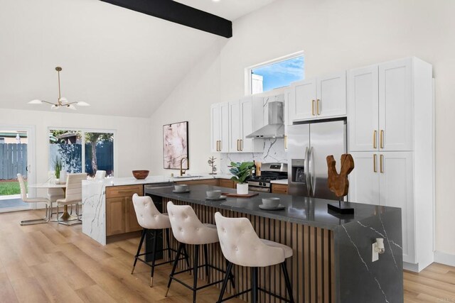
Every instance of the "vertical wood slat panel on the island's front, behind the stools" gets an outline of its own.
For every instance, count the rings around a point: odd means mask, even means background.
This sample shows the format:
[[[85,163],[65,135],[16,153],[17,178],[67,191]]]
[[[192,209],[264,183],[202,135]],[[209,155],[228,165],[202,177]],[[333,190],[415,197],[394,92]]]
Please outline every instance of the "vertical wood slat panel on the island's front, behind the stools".
[[[203,223],[215,224],[214,214],[220,211],[223,216],[231,218],[246,217],[252,222],[255,231],[260,238],[290,246],[294,251],[292,258],[287,259],[287,267],[291,277],[291,284],[296,302],[335,302],[333,295],[334,275],[333,268],[333,232],[313,226],[305,226],[276,219],[264,218],[250,214],[242,214],[237,211],[218,209],[211,206],[203,206],[184,202],[178,199],[165,199],[178,205],[190,205],[196,211],[198,218]],[[325,245],[324,245],[325,244]],[[178,248],[175,238],[171,237],[171,247]],[[209,246],[209,258],[213,265],[225,270],[225,258],[219,244]],[[188,252],[193,258],[193,246],[188,246]],[[203,250],[200,250],[200,260],[203,260]],[[167,257],[166,257],[167,258]],[[178,268],[186,268],[183,261],[178,263]],[[236,291],[241,292],[250,288],[250,269],[234,266]],[[205,279],[203,268],[200,268],[198,277]],[[210,270],[210,277],[222,279],[223,274]],[[220,286],[220,285],[219,285]],[[270,268],[259,268],[259,287],[287,297],[284,279],[279,265]],[[233,293],[231,285],[228,292]],[[243,294],[241,299],[250,302],[250,294]],[[259,292],[259,302],[281,302],[269,294]]]

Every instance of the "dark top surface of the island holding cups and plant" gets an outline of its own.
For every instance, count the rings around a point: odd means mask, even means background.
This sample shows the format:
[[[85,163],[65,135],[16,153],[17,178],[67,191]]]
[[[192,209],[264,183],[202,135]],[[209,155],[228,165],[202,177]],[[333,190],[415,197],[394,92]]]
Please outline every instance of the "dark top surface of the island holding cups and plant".
[[[316,226],[320,228],[336,229],[339,226],[348,224],[352,221],[362,221],[363,219],[383,214],[385,212],[400,211],[399,208],[389,206],[378,206],[361,203],[349,203],[355,209],[353,215],[329,214],[327,210],[328,203],[337,203],[336,201],[325,199],[314,199],[308,197],[291,196],[289,194],[268,194],[259,193],[252,198],[230,198],[220,201],[210,201],[205,199],[205,192],[213,189],[220,189],[222,192],[235,193],[236,189],[225,187],[214,187],[209,185],[188,185],[191,192],[187,194],[173,193],[173,187],[148,188],[146,194],[159,197],[178,199],[185,202],[201,204],[205,206],[228,209],[243,214],[252,214],[264,218],[277,219],[280,221],[289,221],[296,224]],[[280,204],[286,206],[281,211],[265,211],[259,209],[264,197],[279,197]],[[163,201],[166,203],[166,200]]]

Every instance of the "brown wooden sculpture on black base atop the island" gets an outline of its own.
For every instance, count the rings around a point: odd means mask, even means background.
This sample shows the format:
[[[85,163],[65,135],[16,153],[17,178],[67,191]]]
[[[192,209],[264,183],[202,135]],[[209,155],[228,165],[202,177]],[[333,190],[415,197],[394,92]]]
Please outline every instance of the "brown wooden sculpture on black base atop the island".
[[[338,207],[329,204],[328,208],[343,214],[352,214],[353,209],[343,209],[341,207],[341,199],[343,199],[349,191],[348,175],[354,169],[353,156],[350,154],[341,155],[341,170],[339,174],[336,171],[336,161],[333,158],[333,155],[328,155],[326,160],[328,167],[328,188],[331,192],[335,193],[336,197],[338,197]]]

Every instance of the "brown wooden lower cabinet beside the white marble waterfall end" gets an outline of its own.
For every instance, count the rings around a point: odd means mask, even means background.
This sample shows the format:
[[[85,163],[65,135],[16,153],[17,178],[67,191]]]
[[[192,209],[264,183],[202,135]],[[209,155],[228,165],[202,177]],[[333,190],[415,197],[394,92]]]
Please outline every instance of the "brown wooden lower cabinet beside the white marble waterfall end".
[[[144,194],[142,185],[106,187],[106,236],[140,231],[133,194]]]

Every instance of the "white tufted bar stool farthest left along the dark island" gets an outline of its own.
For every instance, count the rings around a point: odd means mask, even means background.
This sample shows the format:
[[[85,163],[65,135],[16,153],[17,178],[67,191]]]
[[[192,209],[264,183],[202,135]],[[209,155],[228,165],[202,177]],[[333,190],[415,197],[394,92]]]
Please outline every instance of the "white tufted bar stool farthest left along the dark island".
[[[134,272],[134,268],[136,267],[137,260],[141,261],[142,263],[149,265],[151,267],[151,272],[150,272],[150,287],[154,285],[154,271],[155,271],[155,266],[159,265],[164,265],[168,263],[173,263],[174,260],[171,258],[171,251],[176,252],[176,250],[173,250],[169,246],[169,228],[171,228],[171,222],[169,221],[169,216],[168,214],[164,213],[161,214],[158,209],[156,209],[156,206],[149,196],[144,196],[144,197],[139,197],[138,194],[133,194],[133,206],[134,206],[134,211],[136,212],[136,217],[137,217],[137,222],[139,225],[144,228],[142,230],[142,235],[141,235],[141,241],[139,242],[139,247],[137,248],[137,253],[134,256],[134,264],[133,264],[133,269],[131,271],[131,274]],[[167,242],[167,247],[163,248],[161,250],[156,249],[156,241],[158,240],[158,231],[159,230],[165,230],[166,232],[166,242]],[[152,236],[152,251],[150,253],[141,253],[141,248],[142,248],[142,243],[144,243],[144,238],[146,236],[147,231],[151,231],[151,236]],[[156,264],[156,253],[159,252],[164,252],[164,250],[167,250],[168,252],[168,261],[164,261],[162,263]],[[148,255],[151,254],[151,263],[149,264],[145,259],[141,259],[140,257],[142,255]],[[186,259],[186,265],[188,265],[188,268],[190,267],[189,261],[188,261],[188,253],[186,251],[183,253],[184,258]],[[178,259],[178,258],[176,258]],[[182,260],[182,259],[180,259]]]

